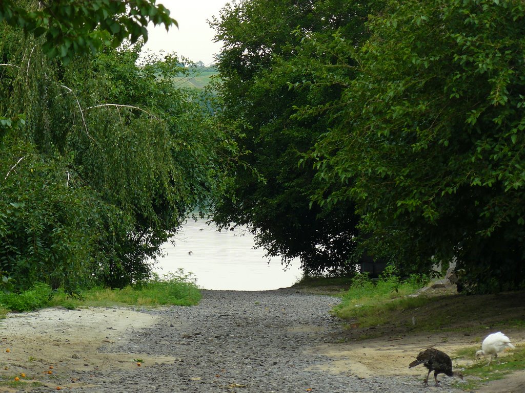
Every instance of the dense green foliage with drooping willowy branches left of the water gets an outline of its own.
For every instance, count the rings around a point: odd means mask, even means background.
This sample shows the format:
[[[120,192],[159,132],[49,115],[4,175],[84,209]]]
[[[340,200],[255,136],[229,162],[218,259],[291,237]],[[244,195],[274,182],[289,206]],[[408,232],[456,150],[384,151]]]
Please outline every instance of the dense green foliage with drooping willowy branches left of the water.
[[[208,98],[177,89],[176,56],[140,44],[67,64],[0,25],[0,271],[4,289],[148,278],[160,246],[223,189],[234,145]]]

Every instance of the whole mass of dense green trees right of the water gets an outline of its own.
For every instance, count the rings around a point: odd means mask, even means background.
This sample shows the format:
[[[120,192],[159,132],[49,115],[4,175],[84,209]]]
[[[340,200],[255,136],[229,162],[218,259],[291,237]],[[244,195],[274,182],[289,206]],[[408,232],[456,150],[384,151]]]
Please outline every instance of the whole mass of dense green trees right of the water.
[[[216,220],[253,225],[259,246],[300,256],[306,272],[337,270],[357,247],[403,275],[455,260],[461,289],[522,288],[524,10],[225,7],[214,23],[222,115],[243,130],[250,168]]]

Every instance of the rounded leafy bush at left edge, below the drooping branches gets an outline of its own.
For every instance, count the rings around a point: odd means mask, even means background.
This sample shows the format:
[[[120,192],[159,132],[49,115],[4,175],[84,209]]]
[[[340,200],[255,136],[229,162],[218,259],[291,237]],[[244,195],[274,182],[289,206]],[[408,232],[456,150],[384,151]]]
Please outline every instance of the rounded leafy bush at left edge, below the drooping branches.
[[[0,157],[0,270],[14,289],[36,282],[73,292],[90,279],[97,207],[62,159],[12,140]],[[16,164],[16,166],[15,166]]]

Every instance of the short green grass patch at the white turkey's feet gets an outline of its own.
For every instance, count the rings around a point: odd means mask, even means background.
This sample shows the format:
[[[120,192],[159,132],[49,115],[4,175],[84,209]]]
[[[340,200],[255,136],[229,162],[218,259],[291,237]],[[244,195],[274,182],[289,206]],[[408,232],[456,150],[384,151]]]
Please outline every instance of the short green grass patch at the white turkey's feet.
[[[463,348],[458,351],[458,357],[475,357],[477,347]],[[499,359],[499,364],[498,364]],[[487,366],[488,357],[481,359],[471,366],[465,367],[463,372],[468,382],[457,384],[463,390],[477,389],[489,381],[502,379],[506,375],[514,372],[523,372],[525,369],[525,346],[518,345],[514,350],[509,351],[505,356],[499,357]]]

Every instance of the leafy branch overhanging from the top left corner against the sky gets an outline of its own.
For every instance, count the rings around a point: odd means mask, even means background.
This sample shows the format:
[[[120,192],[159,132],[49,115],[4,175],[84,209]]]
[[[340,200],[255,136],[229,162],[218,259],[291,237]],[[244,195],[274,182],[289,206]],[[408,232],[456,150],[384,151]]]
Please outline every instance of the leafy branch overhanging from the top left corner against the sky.
[[[43,37],[43,52],[69,62],[78,54],[96,53],[103,45],[148,40],[148,23],[177,25],[155,0],[3,0],[0,22]]]

